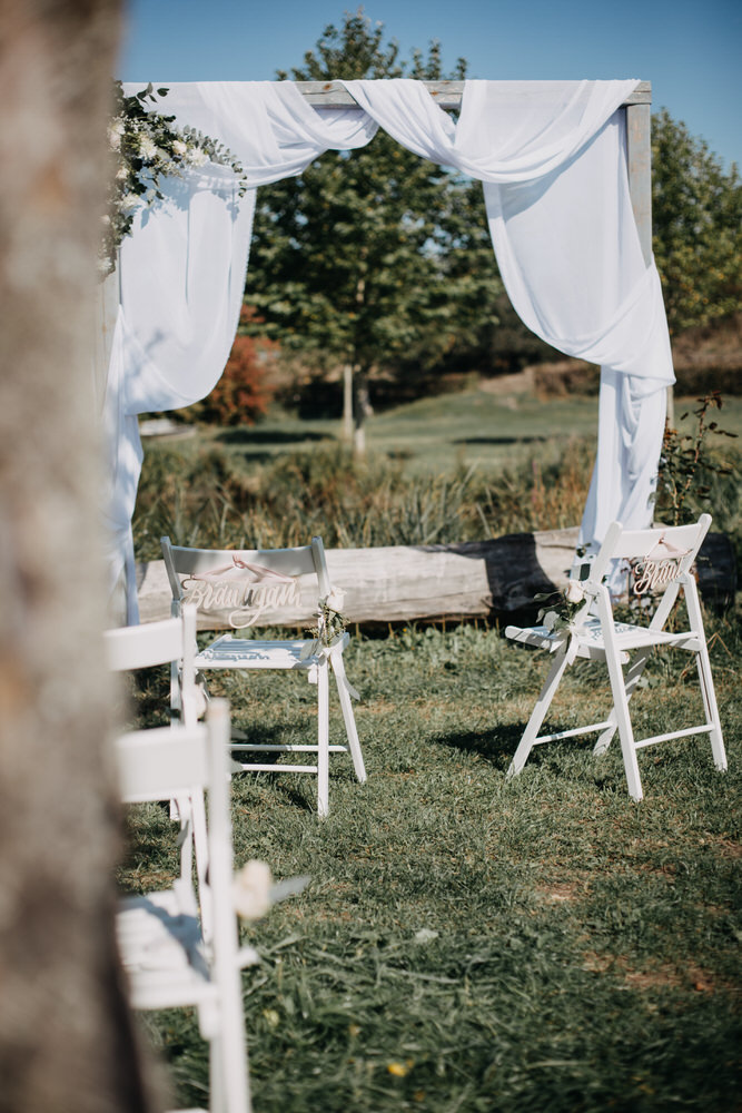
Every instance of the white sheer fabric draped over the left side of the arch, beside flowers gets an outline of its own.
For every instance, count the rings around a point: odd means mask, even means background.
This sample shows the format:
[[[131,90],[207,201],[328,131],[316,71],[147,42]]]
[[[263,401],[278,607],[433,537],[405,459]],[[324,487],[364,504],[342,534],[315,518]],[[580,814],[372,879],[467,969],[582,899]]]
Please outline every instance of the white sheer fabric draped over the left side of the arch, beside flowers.
[[[139,86],[125,86],[131,95]],[[137,215],[120,252],[121,299],[108,371],[111,587],[126,569],[127,621],[136,622],[131,518],[141,470],[137,414],[205,397],[231,348],[245,289],[256,188],[300,174],[328,148],[364,146],[377,125],[363,112],[318,112],[291,82],[172,85],[158,109],[240,159],[250,188],[226,167],[162,183],[165,200]]]

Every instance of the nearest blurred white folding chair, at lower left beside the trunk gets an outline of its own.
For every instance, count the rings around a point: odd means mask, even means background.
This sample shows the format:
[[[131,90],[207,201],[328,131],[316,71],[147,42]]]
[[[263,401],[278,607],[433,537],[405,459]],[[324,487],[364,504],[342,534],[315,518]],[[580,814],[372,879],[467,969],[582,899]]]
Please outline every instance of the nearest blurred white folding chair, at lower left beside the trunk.
[[[211,701],[206,723],[155,728],[116,742],[121,798],[129,804],[182,796],[209,796],[208,900],[212,934],[206,943],[189,879],[172,888],[123,897],[117,938],[133,1008],[195,1006],[209,1042],[211,1113],[249,1113],[240,968],[258,962],[238,948],[233,900],[229,819],[229,707]]]

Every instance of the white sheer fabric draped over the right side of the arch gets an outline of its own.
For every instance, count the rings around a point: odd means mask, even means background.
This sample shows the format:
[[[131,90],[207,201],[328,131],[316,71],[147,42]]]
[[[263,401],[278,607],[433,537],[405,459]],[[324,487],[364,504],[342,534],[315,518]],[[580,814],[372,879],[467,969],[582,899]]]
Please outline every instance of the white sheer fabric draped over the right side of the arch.
[[[508,296],[534,333],[601,365],[598,447],[581,526],[652,520],[665,387],[674,382],[654,263],[631,207],[629,81],[467,81],[456,125],[416,81],[346,81],[399,142],[484,183]]]

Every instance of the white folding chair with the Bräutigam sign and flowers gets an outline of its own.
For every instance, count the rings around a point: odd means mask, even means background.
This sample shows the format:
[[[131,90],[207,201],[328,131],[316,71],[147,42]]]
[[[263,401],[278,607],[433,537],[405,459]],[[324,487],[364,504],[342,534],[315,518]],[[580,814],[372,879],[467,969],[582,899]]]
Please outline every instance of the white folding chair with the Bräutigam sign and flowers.
[[[234,629],[244,629],[259,622],[265,609],[276,609],[298,599],[299,582],[310,578],[317,592],[318,623],[323,629],[324,615],[320,601],[332,598],[325,550],[320,538],[296,549],[264,549],[235,552],[233,550],[187,549],[172,545],[162,538],[162,555],[170,581],[174,612],[189,600],[198,603],[199,612],[218,612]],[[291,641],[260,641],[224,634],[196,656],[198,673],[209,669],[289,669],[304,672],[317,683],[318,728],[317,741],[289,742],[234,742],[231,749],[245,755],[240,766],[256,772],[306,772],[317,777],[317,811],[326,816],[329,810],[329,755],[350,751],[356,777],[366,780],[358,731],[353,713],[352,697],[357,692],[349,686],[343,662],[343,651],[349,641],[347,631],[328,639],[329,644],[311,638]],[[329,682],[332,669],[343,711],[347,745],[329,745]],[[248,760],[254,752],[314,754],[313,765],[276,765]]]

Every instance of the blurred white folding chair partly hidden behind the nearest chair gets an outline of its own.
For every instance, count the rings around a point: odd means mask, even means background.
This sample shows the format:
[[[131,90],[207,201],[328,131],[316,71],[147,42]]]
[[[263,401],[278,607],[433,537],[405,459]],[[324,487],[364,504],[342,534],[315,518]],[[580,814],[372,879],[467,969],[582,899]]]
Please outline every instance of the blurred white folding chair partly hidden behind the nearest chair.
[[[108,668],[115,672],[147,669],[169,664],[171,691],[176,693],[175,707],[180,725],[195,726],[198,718],[200,692],[196,686],[196,608],[185,607],[178,618],[148,622],[142,626],[119,627],[103,634]],[[190,884],[196,854],[196,874],[199,893],[206,884],[208,871],[208,844],[206,838],[206,809],[204,792],[194,788],[175,797],[177,817],[180,819],[180,875]],[[210,932],[208,907],[204,909],[204,929]]]

